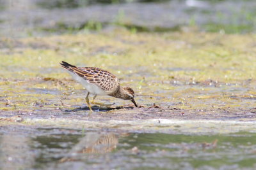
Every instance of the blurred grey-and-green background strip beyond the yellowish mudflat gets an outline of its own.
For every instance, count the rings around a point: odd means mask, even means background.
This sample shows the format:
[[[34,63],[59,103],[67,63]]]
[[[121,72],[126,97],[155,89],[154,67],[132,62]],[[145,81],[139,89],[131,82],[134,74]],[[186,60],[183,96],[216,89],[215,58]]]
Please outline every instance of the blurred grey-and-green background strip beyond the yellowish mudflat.
[[[255,32],[253,0],[0,0],[0,36],[124,27],[131,32]]]

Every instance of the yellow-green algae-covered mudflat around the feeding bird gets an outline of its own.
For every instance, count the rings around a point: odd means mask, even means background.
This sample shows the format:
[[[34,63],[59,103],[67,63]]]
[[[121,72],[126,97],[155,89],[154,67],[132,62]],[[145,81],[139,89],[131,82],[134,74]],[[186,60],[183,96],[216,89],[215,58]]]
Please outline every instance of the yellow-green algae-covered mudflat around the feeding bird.
[[[124,29],[1,39],[1,116],[88,116],[88,110],[76,110],[86,106],[86,92],[59,66],[64,60],[110,71],[134,89],[136,102],[144,106],[99,110],[90,115],[97,119],[255,119],[255,39],[255,34]],[[105,96],[97,101],[131,104]]]

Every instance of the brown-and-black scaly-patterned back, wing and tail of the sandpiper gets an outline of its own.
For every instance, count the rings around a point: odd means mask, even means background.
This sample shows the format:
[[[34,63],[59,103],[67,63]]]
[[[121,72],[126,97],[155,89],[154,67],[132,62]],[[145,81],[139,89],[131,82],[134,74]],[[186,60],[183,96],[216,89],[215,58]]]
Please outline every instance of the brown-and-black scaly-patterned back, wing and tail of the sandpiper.
[[[113,92],[119,86],[118,78],[104,69],[97,67],[76,67],[67,62],[62,62],[61,66],[107,92]]]

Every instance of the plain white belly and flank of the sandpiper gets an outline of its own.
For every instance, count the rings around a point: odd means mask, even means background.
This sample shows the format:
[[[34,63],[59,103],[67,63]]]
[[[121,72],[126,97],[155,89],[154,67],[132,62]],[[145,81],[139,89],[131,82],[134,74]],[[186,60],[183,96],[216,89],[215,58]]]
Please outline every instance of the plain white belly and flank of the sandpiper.
[[[83,85],[83,87],[91,94],[97,94],[97,95],[108,95],[109,94],[108,92],[105,92],[104,90],[100,89],[97,85],[94,85],[94,84],[84,80],[80,76],[77,76],[77,74],[71,73],[70,71],[68,71],[68,73],[72,76],[72,78],[74,78],[74,80],[81,83]]]

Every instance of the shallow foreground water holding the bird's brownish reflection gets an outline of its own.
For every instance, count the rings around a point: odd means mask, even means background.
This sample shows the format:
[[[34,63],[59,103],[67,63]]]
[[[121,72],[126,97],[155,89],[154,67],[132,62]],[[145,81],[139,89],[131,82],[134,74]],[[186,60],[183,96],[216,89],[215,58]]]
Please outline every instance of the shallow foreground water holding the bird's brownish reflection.
[[[108,129],[99,132],[40,128],[33,134],[19,128],[16,131],[19,135],[1,134],[0,146],[6,145],[6,140],[12,139],[11,145],[14,147],[6,149],[1,155],[3,161],[1,167],[5,169],[7,167],[255,169],[256,167],[256,134],[250,132],[184,135]],[[18,141],[19,138],[16,137],[21,135],[26,136],[26,139]],[[24,141],[25,143],[22,143]],[[26,159],[20,152],[26,153]],[[6,155],[8,157],[5,157]],[[13,161],[16,163],[13,164]]]

